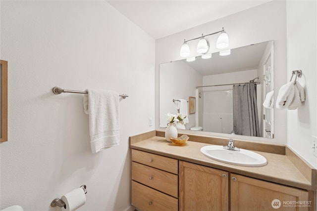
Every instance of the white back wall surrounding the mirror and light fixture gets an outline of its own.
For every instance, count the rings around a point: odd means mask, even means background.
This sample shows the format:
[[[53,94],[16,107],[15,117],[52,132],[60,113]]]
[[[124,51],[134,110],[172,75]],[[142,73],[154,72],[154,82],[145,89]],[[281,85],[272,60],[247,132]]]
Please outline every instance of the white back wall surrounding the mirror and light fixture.
[[[189,40],[201,34],[210,34],[224,27],[229,36],[229,48],[236,48],[253,43],[274,40],[275,88],[286,82],[286,2],[270,1],[268,3],[220,18],[215,21],[156,40],[156,121],[159,126],[159,64],[182,59],[179,50],[184,39]],[[211,52],[215,48],[217,36],[210,36]],[[198,42],[198,41],[197,41]],[[190,42],[191,56],[197,56],[197,42]],[[275,138],[266,140],[286,143],[286,111],[275,114]],[[157,127],[159,128],[159,127]]]

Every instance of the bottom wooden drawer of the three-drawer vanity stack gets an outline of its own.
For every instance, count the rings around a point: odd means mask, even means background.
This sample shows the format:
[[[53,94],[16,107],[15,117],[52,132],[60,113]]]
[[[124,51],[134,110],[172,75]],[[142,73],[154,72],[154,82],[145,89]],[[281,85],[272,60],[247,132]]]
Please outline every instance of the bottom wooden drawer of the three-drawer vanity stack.
[[[178,199],[132,181],[131,204],[142,211],[178,211]]]

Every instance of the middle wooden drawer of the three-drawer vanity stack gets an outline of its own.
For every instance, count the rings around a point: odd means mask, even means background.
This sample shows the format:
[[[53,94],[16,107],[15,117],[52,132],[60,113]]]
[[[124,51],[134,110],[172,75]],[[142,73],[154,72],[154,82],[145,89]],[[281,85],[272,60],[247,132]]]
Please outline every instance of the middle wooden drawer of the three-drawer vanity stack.
[[[132,179],[178,197],[178,176],[175,174],[132,162]]]

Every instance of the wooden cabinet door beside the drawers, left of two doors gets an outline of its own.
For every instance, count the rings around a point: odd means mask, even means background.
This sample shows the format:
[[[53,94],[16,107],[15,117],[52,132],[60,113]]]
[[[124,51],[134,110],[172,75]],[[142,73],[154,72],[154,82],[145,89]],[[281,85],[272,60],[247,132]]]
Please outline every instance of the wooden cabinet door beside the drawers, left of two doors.
[[[179,210],[227,211],[228,172],[179,162]]]

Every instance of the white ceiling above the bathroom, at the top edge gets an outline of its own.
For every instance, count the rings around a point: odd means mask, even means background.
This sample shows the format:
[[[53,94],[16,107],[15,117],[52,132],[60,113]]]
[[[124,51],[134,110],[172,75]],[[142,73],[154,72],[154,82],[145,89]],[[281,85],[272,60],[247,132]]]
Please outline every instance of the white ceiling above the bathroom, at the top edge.
[[[108,0],[154,39],[228,16],[269,0]]]

